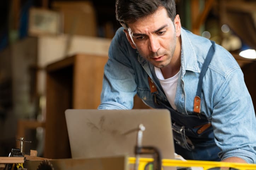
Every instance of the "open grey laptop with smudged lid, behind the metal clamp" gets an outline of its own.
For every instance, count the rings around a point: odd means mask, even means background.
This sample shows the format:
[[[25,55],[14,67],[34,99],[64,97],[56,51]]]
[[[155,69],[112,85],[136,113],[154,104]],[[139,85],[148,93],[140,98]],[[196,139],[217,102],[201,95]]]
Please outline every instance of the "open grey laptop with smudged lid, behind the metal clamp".
[[[67,109],[65,117],[72,158],[135,157],[138,128],[142,124],[142,146],[157,147],[162,159],[174,159],[167,109]]]

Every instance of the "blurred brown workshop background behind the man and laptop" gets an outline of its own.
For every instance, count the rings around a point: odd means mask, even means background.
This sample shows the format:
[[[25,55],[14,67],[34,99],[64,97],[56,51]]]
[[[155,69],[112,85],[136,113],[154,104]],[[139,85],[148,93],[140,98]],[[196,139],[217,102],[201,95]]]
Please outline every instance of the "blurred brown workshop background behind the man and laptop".
[[[256,108],[256,1],[176,0],[182,26],[214,40],[243,70]],[[12,148],[69,158],[64,111],[96,109],[115,0],[0,1],[0,156]],[[91,80],[94,81],[91,81]],[[135,97],[134,108],[147,108]]]

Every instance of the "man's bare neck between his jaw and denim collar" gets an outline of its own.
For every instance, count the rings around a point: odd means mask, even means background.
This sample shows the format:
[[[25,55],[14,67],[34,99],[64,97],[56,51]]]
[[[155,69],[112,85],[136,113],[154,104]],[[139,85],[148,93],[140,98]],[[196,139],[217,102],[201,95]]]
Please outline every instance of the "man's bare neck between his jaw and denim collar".
[[[161,68],[163,77],[165,79],[173,77],[179,72],[180,66],[181,66],[180,58],[181,58],[181,38],[178,37],[173,58],[171,58],[171,62],[169,63],[168,66]]]

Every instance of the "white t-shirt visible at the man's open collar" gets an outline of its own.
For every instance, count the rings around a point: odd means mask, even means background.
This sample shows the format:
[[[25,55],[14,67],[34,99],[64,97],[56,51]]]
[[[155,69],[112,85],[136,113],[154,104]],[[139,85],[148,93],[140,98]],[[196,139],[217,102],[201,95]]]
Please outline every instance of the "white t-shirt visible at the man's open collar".
[[[177,110],[176,106],[174,105],[174,99],[180,71],[173,77],[167,79],[164,79],[161,69],[155,67],[155,72],[171,107]]]

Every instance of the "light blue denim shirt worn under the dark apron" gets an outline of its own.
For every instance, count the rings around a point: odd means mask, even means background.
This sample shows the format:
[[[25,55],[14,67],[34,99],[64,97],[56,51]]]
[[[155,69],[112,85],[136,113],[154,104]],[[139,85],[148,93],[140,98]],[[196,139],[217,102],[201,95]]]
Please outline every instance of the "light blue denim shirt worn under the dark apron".
[[[190,115],[200,70],[211,42],[182,28],[181,44],[181,70],[174,103],[178,112]],[[157,86],[157,100],[170,107],[153,65],[130,46],[121,27],[109,48],[98,109],[132,109],[135,94],[146,105],[163,108],[154,103],[148,76]],[[256,163],[256,118],[251,96],[238,63],[217,44],[203,78],[201,113],[213,126],[221,159],[240,157],[248,163]]]

